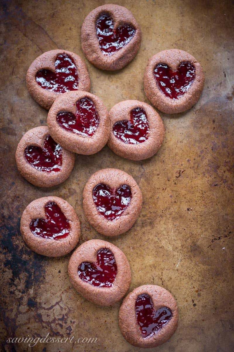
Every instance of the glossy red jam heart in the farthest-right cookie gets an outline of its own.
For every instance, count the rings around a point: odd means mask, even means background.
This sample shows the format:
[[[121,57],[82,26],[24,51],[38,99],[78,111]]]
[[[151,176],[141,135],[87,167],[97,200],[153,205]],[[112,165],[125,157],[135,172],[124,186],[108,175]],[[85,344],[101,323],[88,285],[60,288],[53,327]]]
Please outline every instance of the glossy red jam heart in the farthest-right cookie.
[[[185,94],[195,78],[195,67],[189,62],[182,62],[176,71],[166,64],[155,67],[154,77],[161,91],[171,99],[179,99]]]

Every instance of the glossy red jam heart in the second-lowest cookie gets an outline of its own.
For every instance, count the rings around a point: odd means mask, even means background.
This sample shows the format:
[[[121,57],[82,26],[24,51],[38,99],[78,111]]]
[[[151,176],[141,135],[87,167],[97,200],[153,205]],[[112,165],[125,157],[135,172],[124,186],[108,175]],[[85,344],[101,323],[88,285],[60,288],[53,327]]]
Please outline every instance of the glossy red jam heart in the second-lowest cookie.
[[[81,280],[93,286],[112,287],[117,274],[117,265],[114,254],[107,248],[97,252],[95,263],[83,262],[78,266],[78,275]]]

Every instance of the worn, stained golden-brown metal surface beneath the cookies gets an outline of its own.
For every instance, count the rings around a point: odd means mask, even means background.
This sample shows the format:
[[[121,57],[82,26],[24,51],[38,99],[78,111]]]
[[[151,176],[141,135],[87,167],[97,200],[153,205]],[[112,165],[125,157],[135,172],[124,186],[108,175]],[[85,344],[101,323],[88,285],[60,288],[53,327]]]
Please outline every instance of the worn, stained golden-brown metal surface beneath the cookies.
[[[126,342],[118,328],[120,303],[101,308],[71,287],[69,255],[50,259],[24,244],[19,221],[32,200],[56,195],[81,220],[80,243],[101,238],[88,224],[82,191],[93,172],[116,167],[131,174],[143,194],[138,221],[110,241],[126,254],[130,290],[158,284],[179,306],[179,327],[166,352],[233,351],[233,5],[230,1],[115,1],[133,12],[142,29],[139,54],[113,73],[87,62],[91,92],[107,108],[125,99],[147,101],[143,72],[156,52],[180,48],[205,71],[205,88],[190,111],[160,113],[165,142],[156,156],[127,161],[106,146],[92,156],[76,156],[71,176],[60,186],[39,189],[16,169],[14,154],[22,135],[45,125],[47,112],[26,89],[26,71],[42,52],[61,48],[81,55],[85,16],[106,1],[6,1],[1,54],[1,300],[3,351],[143,351]],[[148,102],[149,103],[149,102]],[[97,337],[95,344],[7,344],[8,337]],[[73,345],[73,346],[72,346]],[[149,349],[149,351],[151,351]]]

